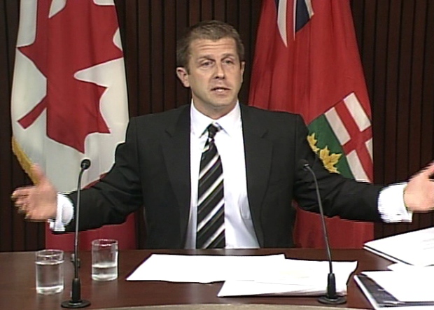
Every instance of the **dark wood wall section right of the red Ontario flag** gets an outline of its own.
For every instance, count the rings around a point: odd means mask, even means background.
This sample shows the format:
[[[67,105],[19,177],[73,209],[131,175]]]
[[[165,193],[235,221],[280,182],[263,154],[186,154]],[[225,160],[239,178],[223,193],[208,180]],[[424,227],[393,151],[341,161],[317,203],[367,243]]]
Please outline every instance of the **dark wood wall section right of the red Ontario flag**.
[[[375,182],[404,181],[433,160],[433,6],[429,0],[352,1],[374,132]],[[434,225],[375,225],[383,237]]]

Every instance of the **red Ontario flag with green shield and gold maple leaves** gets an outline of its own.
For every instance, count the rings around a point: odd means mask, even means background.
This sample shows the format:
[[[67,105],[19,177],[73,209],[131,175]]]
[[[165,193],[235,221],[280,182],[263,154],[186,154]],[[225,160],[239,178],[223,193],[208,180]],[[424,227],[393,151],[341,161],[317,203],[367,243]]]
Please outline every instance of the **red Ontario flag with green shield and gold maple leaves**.
[[[372,181],[370,103],[349,0],[263,0],[249,96],[253,106],[300,113],[330,171]],[[373,239],[372,223],[327,225],[334,248]],[[297,210],[295,243],[324,246],[318,215]]]

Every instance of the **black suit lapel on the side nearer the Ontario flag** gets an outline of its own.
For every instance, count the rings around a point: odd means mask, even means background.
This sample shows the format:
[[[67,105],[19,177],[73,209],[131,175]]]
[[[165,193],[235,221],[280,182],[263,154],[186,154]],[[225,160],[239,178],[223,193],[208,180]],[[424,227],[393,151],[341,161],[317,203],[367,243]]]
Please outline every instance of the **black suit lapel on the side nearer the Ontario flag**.
[[[241,105],[244,152],[246,155],[247,196],[253,226],[260,246],[263,245],[260,208],[267,190],[272,160],[272,143],[266,139],[267,127],[252,108]]]

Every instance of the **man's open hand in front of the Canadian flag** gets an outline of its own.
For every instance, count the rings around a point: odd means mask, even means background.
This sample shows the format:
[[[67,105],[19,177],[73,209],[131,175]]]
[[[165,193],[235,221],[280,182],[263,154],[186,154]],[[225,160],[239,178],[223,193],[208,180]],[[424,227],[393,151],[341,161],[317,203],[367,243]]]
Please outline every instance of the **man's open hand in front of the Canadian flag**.
[[[37,165],[31,166],[36,176],[35,185],[17,188],[12,199],[18,212],[24,213],[27,220],[45,221],[55,218],[57,212],[57,190]]]

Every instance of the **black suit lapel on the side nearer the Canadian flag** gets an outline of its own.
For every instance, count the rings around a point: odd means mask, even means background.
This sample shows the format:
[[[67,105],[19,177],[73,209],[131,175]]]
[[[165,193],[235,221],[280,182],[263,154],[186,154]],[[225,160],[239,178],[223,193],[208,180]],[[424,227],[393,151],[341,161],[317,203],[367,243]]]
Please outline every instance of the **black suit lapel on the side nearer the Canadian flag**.
[[[167,174],[179,204],[181,241],[185,241],[190,213],[190,106],[167,127],[162,139]],[[183,244],[181,245],[183,246]]]

